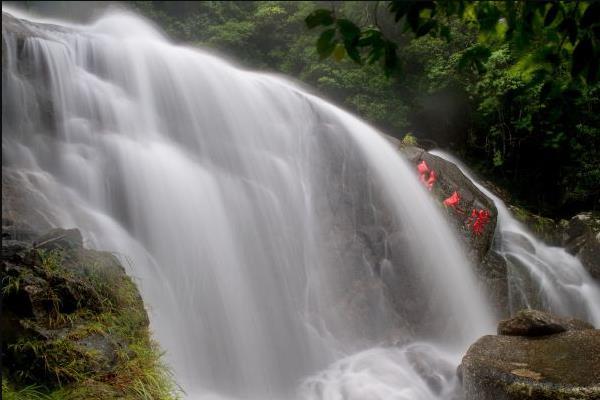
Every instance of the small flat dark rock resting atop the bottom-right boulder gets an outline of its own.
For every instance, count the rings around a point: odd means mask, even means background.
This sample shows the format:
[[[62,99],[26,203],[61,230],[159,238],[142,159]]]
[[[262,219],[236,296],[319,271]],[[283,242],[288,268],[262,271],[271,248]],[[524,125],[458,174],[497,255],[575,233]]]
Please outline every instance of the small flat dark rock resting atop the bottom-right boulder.
[[[498,324],[498,334],[510,336],[544,336],[585,329],[594,327],[576,318],[561,318],[537,310],[521,310]]]

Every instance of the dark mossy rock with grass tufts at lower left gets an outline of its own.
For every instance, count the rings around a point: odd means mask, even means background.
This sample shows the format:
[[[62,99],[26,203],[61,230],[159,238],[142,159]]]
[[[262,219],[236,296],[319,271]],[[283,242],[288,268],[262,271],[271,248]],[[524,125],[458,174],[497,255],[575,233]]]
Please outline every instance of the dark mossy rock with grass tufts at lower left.
[[[135,283],[82,243],[75,229],[3,242],[3,397],[176,398]]]

